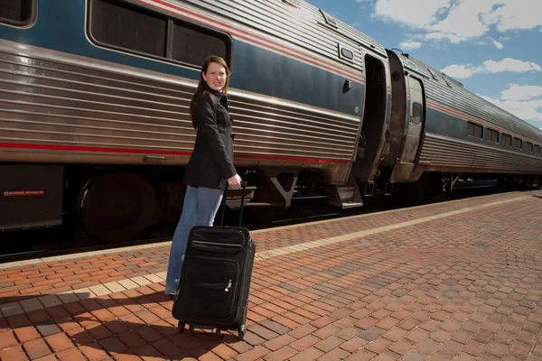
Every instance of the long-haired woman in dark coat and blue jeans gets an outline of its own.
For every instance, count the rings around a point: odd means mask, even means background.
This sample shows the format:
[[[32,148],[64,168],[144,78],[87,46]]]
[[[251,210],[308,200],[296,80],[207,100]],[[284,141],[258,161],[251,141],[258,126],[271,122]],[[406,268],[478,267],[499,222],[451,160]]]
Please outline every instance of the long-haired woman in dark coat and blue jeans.
[[[186,166],[187,184],[182,215],[173,235],[165,293],[174,295],[192,227],[212,226],[223,190],[239,188],[241,178],[233,166],[231,119],[228,113],[229,69],[217,56],[205,60],[200,83],[192,97],[190,116],[196,143]]]

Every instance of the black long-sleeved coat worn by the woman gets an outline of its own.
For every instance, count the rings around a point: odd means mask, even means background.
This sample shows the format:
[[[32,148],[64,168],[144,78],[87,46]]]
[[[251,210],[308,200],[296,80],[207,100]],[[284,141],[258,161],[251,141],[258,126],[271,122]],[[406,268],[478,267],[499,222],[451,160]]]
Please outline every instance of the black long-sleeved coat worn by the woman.
[[[228,98],[218,91],[205,92],[194,106],[192,116],[198,130],[184,182],[223,190],[226,180],[237,173],[233,166]]]

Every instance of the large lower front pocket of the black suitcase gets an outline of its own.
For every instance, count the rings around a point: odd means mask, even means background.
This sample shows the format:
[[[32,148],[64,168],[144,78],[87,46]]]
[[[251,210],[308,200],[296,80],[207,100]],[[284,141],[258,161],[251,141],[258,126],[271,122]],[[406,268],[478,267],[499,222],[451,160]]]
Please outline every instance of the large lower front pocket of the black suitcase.
[[[232,310],[238,288],[238,264],[227,259],[192,259],[186,278],[190,301],[183,302],[191,314],[224,318]],[[183,291],[183,290],[182,290]],[[182,299],[183,295],[179,297]]]

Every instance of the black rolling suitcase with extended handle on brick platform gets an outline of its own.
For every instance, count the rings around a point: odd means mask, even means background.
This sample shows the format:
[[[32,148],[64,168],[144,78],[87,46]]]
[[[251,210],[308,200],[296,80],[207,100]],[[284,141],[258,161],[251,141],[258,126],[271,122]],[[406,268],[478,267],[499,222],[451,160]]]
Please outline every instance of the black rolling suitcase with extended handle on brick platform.
[[[237,329],[246,332],[248,291],[256,245],[241,226],[246,183],[241,193],[238,227],[223,227],[227,190],[221,205],[220,226],[193,227],[188,238],[182,274],[172,314],[182,332],[193,329]]]

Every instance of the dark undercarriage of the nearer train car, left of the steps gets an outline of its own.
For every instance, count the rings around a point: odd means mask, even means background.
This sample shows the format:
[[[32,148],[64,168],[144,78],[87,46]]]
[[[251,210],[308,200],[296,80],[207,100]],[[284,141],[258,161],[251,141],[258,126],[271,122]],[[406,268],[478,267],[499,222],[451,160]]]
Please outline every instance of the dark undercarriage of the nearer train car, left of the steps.
[[[101,242],[125,242],[181,216],[182,167],[2,164],[0,232],[39,227],[82,227]],[[248,181],[247,213],[269,222],[289,208],[294,191],[317,190],[319,176],[276,168],[238,170]],[[240,205],[240,190],[229,190],[229,209]]]

